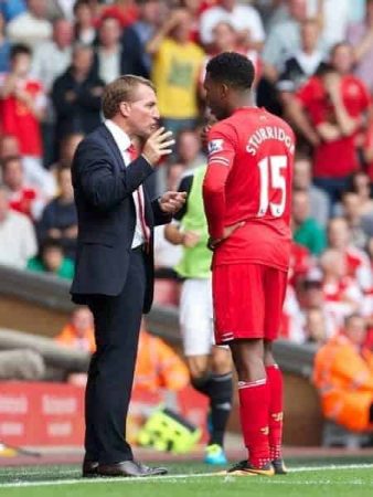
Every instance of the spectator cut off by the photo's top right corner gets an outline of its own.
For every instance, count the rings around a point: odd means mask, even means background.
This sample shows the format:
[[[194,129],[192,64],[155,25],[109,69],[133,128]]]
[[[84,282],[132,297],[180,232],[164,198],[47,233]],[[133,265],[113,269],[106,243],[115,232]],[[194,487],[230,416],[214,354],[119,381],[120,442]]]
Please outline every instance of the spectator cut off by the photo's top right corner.
[[[354,74],[373,92],[373,0],[366,0],[363,21],[350,25],[348,41],[354,51]]]

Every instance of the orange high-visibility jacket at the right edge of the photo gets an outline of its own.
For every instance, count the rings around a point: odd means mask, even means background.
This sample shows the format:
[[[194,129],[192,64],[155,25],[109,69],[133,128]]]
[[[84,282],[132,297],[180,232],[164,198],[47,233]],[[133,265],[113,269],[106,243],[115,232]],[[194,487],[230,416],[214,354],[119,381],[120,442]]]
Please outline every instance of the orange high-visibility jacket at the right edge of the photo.
[[[343,335],[331,338],[317,352],[313,381],[321,396],[323,415],[349,430],[372,430],[373,353],[359,350]]]

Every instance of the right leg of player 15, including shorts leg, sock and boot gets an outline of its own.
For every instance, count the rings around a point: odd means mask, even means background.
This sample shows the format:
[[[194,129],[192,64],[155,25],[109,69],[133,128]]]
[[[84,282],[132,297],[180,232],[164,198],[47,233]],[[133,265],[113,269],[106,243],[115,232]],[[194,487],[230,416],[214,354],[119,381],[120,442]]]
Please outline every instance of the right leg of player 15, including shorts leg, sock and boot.
[[[284,382],[283,373],[273,355],[273,342],[277,338],[280,325],[281,309],[285,298],[287,274],[275,268],[268,268],[266,273],[265,288],[265,342],[264,363],[266,367],[269,389],[269,450],[270,459],[276,474],[287,473],[283,459],[283,419],[284,419]]]

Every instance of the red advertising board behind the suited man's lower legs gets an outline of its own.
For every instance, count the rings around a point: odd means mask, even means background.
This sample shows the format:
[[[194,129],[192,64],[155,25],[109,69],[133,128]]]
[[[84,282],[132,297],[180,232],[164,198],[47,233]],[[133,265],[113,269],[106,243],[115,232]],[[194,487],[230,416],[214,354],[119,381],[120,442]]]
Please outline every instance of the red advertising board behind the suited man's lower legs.
[[[162,392],[150,394],[135,390],[130,411],[135,417],[140,411],[149,413],[163,400]],[[204,427],[207,402],[203,395],[186,388],[175,394],[174,408],[190,422]],[[131,426],[128,429],[130,432]],[[47,382],[0,382],[0,442],[15,446],[66,447],[82,446],[83,440],[82,387]]]

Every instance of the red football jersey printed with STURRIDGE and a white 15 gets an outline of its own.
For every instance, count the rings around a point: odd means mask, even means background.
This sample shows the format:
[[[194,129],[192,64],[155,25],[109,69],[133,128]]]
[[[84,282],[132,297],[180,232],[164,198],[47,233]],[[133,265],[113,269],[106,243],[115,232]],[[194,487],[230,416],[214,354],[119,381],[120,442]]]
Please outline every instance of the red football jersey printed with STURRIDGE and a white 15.
[[[213,265],[287,271],[294,154],[291,128],[262,108],[239,108],[212,127],[203,183],[210,235],[220,239],[225,226],[245,221],[216,247]]]

